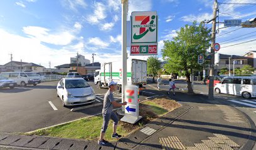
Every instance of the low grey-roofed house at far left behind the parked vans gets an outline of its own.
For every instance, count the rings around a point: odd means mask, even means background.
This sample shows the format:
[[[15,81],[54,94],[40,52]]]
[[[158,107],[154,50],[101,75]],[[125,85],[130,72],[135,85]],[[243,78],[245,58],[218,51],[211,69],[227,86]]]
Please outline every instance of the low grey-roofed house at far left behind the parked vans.
[[[25,71],[25,72],[34,72],[41,73],[45,69],[45,67],[35,64],[35,63],[26,63],[20,61],[10,61],[3,65],[6,71]]]

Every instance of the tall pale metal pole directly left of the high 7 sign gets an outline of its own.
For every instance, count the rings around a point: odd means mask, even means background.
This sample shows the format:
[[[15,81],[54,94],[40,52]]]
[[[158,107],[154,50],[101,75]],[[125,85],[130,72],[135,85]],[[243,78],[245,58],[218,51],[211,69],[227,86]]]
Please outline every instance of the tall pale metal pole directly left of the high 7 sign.
[[[127,84],[127,12],[128,12],[128,0],[122,1],[122,103],[124,103],[124,88]],[[125,108],[122,106],[122,111]]]

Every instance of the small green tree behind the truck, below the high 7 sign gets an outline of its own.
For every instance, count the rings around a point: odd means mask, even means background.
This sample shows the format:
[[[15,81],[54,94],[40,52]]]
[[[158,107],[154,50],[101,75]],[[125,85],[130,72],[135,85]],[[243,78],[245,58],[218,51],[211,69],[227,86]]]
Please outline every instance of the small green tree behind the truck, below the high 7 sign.
[[[154,77],[157,72],[161,69],[161,61],[155,56],[147,58],[147,73],[153,74],[152,82],[154,82]]]

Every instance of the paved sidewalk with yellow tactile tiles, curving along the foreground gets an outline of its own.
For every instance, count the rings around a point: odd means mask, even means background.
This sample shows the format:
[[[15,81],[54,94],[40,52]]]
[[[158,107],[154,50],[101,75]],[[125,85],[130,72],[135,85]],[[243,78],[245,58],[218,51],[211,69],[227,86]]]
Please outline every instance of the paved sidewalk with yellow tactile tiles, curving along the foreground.
[[[183,106],[107,146],[97,141],[0,133],[0,149],[252,149],[248,141],[255,138],[255,131],[237,109],[182,91],[171,98]]]

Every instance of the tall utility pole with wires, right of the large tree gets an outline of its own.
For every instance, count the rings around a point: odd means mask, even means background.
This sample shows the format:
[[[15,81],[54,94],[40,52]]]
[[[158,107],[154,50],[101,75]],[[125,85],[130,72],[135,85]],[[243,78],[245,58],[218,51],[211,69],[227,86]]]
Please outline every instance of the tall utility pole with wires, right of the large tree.
[[[213,24],[211,28],[211,63],[210,63],[210,74],[209,74],[209,91],[208,91],[208,99],[213,100],[213,79],[214,79],[214,63],[215,63],[215,51],[213,50],[213,44],[215,44],[216,38],[216,17],[217,17],[218,3],[215,0],[213,4]]]

